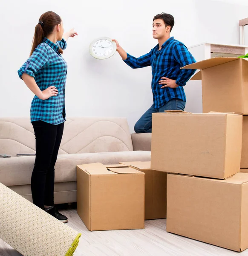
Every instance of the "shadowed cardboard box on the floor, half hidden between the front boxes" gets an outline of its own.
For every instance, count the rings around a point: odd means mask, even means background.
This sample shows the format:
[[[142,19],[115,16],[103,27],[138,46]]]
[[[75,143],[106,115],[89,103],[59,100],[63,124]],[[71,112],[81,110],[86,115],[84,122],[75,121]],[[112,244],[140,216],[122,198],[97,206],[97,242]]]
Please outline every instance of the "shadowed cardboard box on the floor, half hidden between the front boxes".
[[[124,162],[145,173],[145,220],[166,218],[167,173],[151,170],[151,162]]]

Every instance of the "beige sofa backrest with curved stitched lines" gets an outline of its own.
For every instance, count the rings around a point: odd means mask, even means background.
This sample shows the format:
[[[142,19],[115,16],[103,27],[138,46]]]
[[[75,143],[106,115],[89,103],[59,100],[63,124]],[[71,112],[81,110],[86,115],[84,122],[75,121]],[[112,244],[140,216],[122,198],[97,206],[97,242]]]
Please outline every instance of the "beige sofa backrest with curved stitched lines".
[[[59,154],[133,151],[126,118],[66,118]],[[35,153],[29,118],[0,118],[0,154]]]

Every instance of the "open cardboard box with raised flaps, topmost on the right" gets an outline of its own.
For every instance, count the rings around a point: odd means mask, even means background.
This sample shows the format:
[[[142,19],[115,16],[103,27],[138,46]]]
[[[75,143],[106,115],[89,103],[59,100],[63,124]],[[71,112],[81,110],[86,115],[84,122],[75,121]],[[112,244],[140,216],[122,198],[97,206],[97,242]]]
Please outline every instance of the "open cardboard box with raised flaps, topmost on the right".
[[[202,80],[202,109],[248,113],[248,59],[216,57],[182,67],[199,69],[191,80]]]

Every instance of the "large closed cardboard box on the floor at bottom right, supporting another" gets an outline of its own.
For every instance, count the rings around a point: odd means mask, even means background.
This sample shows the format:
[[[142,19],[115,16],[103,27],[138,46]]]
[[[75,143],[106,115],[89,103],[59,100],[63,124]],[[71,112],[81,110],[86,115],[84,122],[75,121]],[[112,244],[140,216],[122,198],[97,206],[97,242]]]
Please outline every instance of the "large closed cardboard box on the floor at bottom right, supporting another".
[[[167,232],[238,252],[248,248],[248,174],[226,180],[168,174]]]

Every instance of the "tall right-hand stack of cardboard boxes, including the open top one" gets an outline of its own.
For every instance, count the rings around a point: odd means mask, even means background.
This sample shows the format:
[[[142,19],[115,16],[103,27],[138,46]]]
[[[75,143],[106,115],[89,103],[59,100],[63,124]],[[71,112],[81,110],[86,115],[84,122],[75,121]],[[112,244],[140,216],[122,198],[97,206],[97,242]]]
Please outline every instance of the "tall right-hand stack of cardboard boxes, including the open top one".
[[[151,168],[169,173],[167,232],[242,251],[248,248],[248,174],[239,172],[241,154],[241,167],[248,166],[248,61],[212,58],[185,68],[201,70],[193,79],[202,79],[204,113],[153,114]]]

